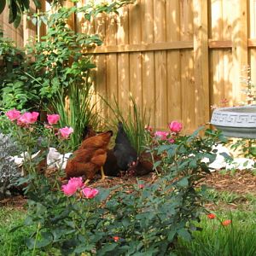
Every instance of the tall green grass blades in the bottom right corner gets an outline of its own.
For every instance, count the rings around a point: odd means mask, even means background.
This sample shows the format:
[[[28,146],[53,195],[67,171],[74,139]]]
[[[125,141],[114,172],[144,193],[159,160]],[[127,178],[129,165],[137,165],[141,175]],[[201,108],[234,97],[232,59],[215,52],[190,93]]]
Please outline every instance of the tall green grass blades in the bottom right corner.
[[[195,231],[194,241],[179,240],[177,255],[218,256],[256,253],[255,212],[218,212],[218,219],[201,218],[201,231]],[[220,221],[230,218],[232,224],[222,226]]]

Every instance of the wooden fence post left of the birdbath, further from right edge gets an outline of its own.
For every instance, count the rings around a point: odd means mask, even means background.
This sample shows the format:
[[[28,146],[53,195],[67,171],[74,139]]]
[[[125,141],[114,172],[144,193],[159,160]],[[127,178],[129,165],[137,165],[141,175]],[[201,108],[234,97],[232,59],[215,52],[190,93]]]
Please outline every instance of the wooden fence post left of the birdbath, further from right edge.
[[[208,1],[194,0],[195,125],[210,120]]]

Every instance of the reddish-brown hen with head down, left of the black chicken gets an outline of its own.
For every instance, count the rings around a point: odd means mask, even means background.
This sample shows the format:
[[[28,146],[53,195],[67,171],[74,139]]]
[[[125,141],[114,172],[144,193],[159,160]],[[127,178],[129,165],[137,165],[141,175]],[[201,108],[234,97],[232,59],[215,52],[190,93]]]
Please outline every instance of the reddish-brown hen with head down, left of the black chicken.
[[[73,157],[67,161],[65,170],[67,177],[84,175],[90,180],[101,170],[104,179],[102,166],[107,159],[108,143],[112,135],[112,131],[107,131],[85,139],[79,149],[74,151]]]

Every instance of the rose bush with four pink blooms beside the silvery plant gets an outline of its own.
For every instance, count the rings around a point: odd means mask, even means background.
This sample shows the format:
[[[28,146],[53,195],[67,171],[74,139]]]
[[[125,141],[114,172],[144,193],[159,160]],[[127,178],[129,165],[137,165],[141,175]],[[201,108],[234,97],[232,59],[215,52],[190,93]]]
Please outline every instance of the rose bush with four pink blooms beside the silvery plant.
[[[73,133],[73,128],[58,129],[57,123],[60,119],[58,114],[48,114],[47,125],[38,121],[38,112],[21,113],[11,109],[6,113],[6,117],[9,119],[9,133],[23,158],[22,168],[25,176],[20,178],[19,185],[26,183],[27,193],[41,185],[38,172],[44,173],[45,170],[38,169],[42,169],[41,165],[46,161],[49,147],[55,147],[59,152],[67,152],[67,139]],[[43,166],[44,168],[46,166]]]

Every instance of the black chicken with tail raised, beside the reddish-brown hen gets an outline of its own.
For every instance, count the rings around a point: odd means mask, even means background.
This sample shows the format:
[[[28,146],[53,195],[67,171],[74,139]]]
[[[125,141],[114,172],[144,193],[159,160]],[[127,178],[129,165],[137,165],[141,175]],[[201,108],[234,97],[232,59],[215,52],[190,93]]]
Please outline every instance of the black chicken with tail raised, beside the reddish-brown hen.
[[[135,148],[131,146],[129,138],[125,133],[123,124],[119,122],[118,133],[115,138],[113,154],[116,157],[120,170],[127,171],[137,166],[138,156]]]

